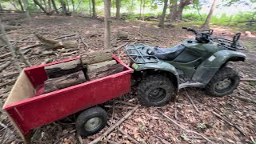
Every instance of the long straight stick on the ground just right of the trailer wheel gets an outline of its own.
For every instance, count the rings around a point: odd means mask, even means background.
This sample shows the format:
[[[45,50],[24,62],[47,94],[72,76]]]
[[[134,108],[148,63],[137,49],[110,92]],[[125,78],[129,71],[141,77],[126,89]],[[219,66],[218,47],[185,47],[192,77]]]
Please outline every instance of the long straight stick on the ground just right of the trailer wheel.
[[[107,134],[110,134],[111,131],[113,131],[117,126],[121,125],[122,122],[126,120],[126,118],[130,117],[131,114],[135,112],[135,110],[138,109],[138,105],[134,107],[133,110],[130,110],[123,118],[121,118],[118,122],[116,122],[113,126],[110,126],[108,130],[106,130],[105,133],[103,133],[98,138],[95,138],[94,141],[90,142],[89,144],[94,144],[102,140],[102,138],[106,137]]]

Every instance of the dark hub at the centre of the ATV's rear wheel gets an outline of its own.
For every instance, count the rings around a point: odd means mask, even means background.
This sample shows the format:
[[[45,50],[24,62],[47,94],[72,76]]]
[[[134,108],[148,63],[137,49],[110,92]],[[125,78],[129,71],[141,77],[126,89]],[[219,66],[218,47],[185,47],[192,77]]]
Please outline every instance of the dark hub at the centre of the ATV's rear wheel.
[[[155,88],[150,91],[149,100],[150,102],[159,102],[166,98],[166,90],[162,88]]]

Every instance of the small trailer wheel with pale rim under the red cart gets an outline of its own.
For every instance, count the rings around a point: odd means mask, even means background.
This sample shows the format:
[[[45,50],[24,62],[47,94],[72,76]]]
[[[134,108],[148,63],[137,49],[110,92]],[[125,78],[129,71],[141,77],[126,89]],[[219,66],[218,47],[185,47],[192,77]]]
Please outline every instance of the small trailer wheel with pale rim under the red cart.
[[[78,134],[88,136],[98,133],[106,126],[107,114],[101,107],[92,107],[78,115],[75,127]]]

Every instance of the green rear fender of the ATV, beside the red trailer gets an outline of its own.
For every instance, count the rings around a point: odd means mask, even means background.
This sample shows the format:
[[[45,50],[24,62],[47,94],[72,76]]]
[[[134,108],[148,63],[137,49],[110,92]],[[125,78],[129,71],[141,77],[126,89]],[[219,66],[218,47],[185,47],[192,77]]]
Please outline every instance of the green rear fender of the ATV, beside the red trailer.
[[[176,68],[167,62],[155,62],[155,63],[145,63],[145,64],[138,64],[138,68],[135,71],[142,71],[142,70],[155,70],[155,71],[163,71],[167,72],[168,74],[172,74],[174,76],[174,86],[178,87],[179,77]]]

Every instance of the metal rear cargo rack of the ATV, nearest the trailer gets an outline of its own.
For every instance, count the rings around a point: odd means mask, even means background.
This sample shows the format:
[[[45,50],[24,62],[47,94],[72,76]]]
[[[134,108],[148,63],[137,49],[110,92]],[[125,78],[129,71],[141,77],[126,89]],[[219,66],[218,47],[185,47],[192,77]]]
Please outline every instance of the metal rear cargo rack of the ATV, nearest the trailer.
[[[146,49],[146,47],[150,46],[143,44],[128,45],[126,46],[126,53],[128,54],[129,58],[137,64],[159,62],[159,59],[156,56],[147,54],[148,49]]]

